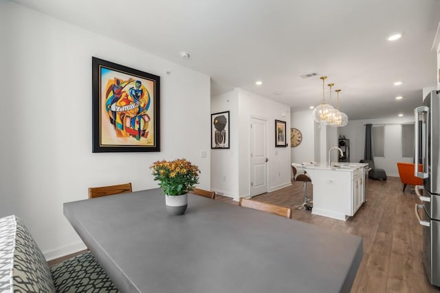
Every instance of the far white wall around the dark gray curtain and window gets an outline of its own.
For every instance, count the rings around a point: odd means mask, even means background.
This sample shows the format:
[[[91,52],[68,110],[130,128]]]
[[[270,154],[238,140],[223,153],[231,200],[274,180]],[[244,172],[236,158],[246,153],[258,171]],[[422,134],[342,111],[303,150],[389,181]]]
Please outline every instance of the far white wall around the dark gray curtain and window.
[[[388,176],[399,176],[397,162],[412,162],[412,158],[401,156],[401,124],[414,122],[414,117],[377,118],[350,120],[340,127],[339,134],[350,140],[350,162],[364,158],[365,124],[384,124],[384,157],[375,157],[375,167],[384,169]]]

